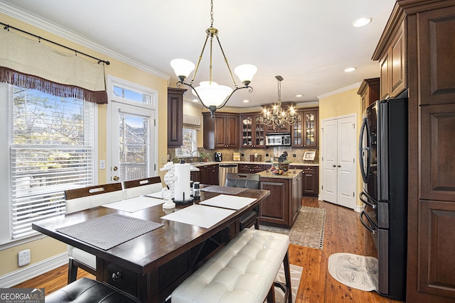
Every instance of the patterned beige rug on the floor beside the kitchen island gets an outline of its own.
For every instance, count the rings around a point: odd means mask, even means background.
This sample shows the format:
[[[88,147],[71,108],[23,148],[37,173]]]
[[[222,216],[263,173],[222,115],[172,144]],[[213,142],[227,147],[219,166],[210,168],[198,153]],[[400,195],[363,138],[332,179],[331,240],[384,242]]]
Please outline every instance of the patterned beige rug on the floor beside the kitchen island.
[[[326,225],[326,209],[302,206],[291,229],[261,225],[262,231],[284,233],[289,241],[300,246],[323,248],[324,226]]]

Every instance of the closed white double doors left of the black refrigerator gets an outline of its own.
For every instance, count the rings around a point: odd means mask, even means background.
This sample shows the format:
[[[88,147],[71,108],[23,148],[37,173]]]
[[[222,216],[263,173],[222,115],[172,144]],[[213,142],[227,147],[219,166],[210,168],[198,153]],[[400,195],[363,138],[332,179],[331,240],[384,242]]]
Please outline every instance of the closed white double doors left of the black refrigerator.
[[[356,116],[322,121],[322,199],[350,209],[356,205]]]

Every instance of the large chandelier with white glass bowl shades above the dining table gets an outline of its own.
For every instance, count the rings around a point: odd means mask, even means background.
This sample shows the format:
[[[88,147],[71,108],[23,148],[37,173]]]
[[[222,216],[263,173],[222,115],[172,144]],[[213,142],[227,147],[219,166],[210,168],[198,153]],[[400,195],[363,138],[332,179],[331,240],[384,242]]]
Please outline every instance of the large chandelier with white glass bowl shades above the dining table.
[[[235,67],[235,75],[239,77],[240,82],[242,82],[243,86],[239,87],[237,83],[235,82],[234,77],[232,76],[232,71],[230,69],[230,66],[228,64],[228,59],[226,59],[225,52],[223,51],[223,48],[221,47],[220,39],[218,38],[218,29],[213,27],[213,0],[210,1],[210,28],[207,28],[205,30],[205,33],[207,34],[205,37],[205,42],[202,48],[202,52],[200,52],[198,64],[196,65],[196,70],[195,70],[195,65],[193,62],[188,61],[186,59],[174,59],[171,60],[171,67],[173,68],[173,71],[176,73],[176,76],[178,78],[177,82],[177,87],[180,87],[181,84],[185,84],[188,87],[191,87],[192,92],[196,97],[198,97],[200,103],[210,111],[210,115],[212,118],[215,115],[215,111],[217,109],[222,108],[225,106],[226,102],[230,99],[232,94],[234,92],[237,92],[238,89],[248,89],[249,92],[252,92],[252,87],[250,87],[250,82],[252,81],[252,78],[255,76],[257,72],[257,67],[255,65],[250,65],[250,64],[245,64],[245,65],[239,65]],[[210,77],[208,81],[200,82],[198,87],[193,87],[193,82],[196,77],[196,73],[198,72],[198,67],[200,64],[200,60],[203,57],[203,53],[205,50],[205,45],[207,45],[207,41],[210,38],[210,67],[209,67],[209,72],[210,72]],[[226,65],[228,65],[228,70],[230,73],[230,77],[232,79],[232,82],[234,82],[234,87],[235,89],[232,89],[231,87],[227,87],[225,85],[218,85],[218,83],[212,81],[212,50],[213,50],[213,38],[216,38],[218,41],[218,45],[220,45],[220,50],[221,53],[223,54],[224,60],[226,62]],[[194,71],[193,78],[191,79],[191,82],[186,82],[186,79],[188,76],[191,74],[191,72]]]

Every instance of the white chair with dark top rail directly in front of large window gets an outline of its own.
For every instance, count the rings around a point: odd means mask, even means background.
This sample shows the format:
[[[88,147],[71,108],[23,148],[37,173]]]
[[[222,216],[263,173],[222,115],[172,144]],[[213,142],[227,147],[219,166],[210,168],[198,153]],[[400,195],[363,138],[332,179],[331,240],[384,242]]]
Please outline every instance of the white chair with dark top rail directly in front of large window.
[[[101,184],[89,187],[65,190],[66,214],[90,209],[102,204],[123,199],[122,183]],[[97,260],[95,255],[84,250],[68,246],[68,284],[77,279],[77,268],[96,275]]]

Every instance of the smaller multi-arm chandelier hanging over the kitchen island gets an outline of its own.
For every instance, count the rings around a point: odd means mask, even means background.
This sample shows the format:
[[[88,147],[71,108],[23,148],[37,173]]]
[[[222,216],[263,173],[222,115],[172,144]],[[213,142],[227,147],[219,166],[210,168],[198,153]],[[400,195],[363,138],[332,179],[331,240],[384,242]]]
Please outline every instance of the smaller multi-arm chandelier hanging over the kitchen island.
[[[275,76],[278,80],[278,101],[272,107],[272,112],[264,106],[264,124],[273,126],[273,129],[284,128],[286,123],[294,125],[296,123],[296,112],[290,106],[288,111],[282,109],[282,76]]]

